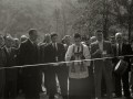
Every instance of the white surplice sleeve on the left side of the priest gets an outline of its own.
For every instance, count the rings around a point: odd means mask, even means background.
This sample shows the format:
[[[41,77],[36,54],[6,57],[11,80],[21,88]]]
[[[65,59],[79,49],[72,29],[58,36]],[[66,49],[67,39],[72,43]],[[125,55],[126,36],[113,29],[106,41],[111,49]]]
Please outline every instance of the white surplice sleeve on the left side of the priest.
[[[69,62],[71,59],[71,56],[73,54],[73,45],[69,46],[66,54],[65,54],[65,62]],[[70,66],[71,63],[66,63],[66,66]]]

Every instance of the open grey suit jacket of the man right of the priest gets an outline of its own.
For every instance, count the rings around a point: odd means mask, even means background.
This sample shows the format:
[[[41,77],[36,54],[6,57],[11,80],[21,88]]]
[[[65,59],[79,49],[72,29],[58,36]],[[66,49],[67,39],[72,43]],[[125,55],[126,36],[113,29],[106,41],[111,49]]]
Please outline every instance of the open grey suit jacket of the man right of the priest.
[[[99,50],[99,43],[94,42],[91,44],[91,57],[92,58],[102,58],[100,54],[96,54],[96,50]],[[111,43],[103,41],[103,51],[106,51],[106,54],[113,56],[113,50]],[[108,72],[112,72],[112,61],[111,59],[96,59],[94,61],[94,69],[95,73],[100,70],[100,68],[105,65]]]

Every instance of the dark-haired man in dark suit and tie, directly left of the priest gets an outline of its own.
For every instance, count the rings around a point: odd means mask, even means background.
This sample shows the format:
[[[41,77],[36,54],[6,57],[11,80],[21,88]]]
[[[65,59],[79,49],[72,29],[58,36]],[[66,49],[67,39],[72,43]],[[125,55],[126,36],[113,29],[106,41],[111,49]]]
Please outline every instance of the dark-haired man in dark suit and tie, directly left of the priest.
[[[66,66],[64,64],[59,64],[58,62],[64,61],[65,50],[63,44],[57,43],[58,34],[51,34],[51,41],[49,45],[44,47],[44,62],[45,63],[55,63],[49,65],[49,82],[50,82],[50,99],[54,99],[54,94],[57,94],[57,81],[55,74],[58,75],[61,95],[63,99],[66,99],[68,96],[68,74],[65,72]]]

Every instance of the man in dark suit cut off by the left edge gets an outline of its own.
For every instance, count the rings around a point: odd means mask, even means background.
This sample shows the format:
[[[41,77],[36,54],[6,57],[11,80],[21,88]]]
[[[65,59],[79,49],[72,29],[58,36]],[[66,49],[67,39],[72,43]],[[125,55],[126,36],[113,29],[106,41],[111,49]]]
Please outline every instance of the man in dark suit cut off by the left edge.
[[[3,36],[0,35],[0,99],[3,99],[6,85],[6,72],[4,69],[1,69],[1,67],[4,67],[7,63],[6,54],[2,50],[3,42]]]

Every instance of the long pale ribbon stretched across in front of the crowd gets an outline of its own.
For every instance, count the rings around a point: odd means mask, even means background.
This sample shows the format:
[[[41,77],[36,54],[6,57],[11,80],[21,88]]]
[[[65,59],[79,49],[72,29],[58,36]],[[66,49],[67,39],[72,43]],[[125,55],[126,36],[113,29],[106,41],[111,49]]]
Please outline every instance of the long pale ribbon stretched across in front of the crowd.
[[[133,55],[124,55],[132,57]],[[123,56],[123,57],[124,57]],[[115,56],[119,57],[119,56]],[[103,57],[103,58],[93,58],[93,59],[80,59],[80,61],[69,61],[69,62],[58,62],[58,63],[45,63],[45,64],[33,64],[33,65],[22,65],[22,66],[12,66],[12,67],[0,67],[0,69],[6,69],[6,68],[22,68],[22,67],[34,67],[34,66],[42,66],[42,65],[54,65],[54,64],[63,64],[63,63],[73,63],[73,62],[88,62],[88,61],[99,61],[99,59],[111,59],[114,57]]]

